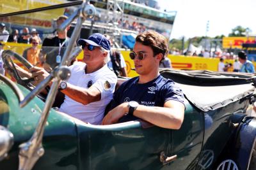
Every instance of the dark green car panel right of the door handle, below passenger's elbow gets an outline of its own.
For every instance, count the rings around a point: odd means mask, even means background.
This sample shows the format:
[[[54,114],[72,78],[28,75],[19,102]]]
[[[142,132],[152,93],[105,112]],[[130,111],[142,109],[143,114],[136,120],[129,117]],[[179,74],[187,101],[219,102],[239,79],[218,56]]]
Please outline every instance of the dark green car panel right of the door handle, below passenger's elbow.
[[[202,150],[203,138],[204,113],[186,104],[182,127],[172,131],[173,152],[168,156],[177,155],[177,159],[166,165],[168,169],[195,169]]]

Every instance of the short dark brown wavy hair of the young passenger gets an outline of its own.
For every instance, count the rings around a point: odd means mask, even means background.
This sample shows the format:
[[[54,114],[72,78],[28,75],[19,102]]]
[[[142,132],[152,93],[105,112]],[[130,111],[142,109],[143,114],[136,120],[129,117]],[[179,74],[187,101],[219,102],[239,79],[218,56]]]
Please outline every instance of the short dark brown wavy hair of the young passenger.
[[[136,42],[150,46],[154,52],[154,56],[158,53],[163,53],[162,60],[169,51],[167,39],[156,31],[149,30],[138,34]]]

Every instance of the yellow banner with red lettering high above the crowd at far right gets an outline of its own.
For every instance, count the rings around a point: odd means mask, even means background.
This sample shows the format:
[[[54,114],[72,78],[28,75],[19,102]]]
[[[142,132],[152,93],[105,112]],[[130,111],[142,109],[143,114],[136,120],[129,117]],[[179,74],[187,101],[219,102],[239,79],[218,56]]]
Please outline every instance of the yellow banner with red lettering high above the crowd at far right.
[[[243,43],[256,43],[254,37],[224,37],[222,39],[223,48],[242,48]]]

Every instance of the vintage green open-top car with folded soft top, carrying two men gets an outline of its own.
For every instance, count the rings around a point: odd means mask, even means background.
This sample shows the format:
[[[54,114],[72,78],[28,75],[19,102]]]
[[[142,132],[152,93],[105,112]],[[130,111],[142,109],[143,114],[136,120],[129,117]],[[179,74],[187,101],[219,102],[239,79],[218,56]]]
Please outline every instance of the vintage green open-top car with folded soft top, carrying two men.
[[[83,19],[92,14],[93,6],[83,3],[61,25],[63,29],[79,16],[73,44]],[[71,44],[60,66],[33,90],[28,90],[31,80],[15,70],[18,83],[0,75],[0,169],[256,169],[256,118],[250,115],[256,101],[253,74],[163,69],[161,74],[186,96],[179,130],[143,120],[91,125],[51,108],[58,83],[70,73],[66,60],[81,50]],[[2,57],[11,69],[13,57],[31,67],[12,50]],[[52,78],[56,81],[44,102],[36,94]]]

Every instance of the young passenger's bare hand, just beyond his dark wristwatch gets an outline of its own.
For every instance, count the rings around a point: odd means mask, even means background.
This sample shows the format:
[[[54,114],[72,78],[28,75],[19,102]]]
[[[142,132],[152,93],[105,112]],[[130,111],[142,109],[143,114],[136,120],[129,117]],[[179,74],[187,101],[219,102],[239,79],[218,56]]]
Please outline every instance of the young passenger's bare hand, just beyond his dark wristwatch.
[[[128,113],[128,103],[122,103],[116,106],[113,110],[109,111],[106,117],[102,120],[102,125],[111,125],[116,124],[118,120],[125,115],[125,113]]]

